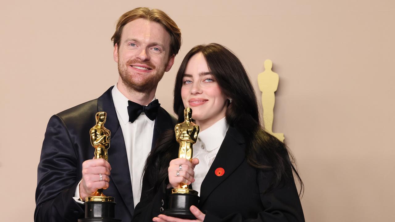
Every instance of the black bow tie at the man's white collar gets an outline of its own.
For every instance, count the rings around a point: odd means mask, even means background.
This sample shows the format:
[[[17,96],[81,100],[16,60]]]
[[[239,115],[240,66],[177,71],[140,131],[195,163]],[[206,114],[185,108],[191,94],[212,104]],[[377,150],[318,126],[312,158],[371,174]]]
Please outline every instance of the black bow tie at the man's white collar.
[[[147,106],[140,105],[130,100],[128,101],[128,104],[129,122],[134,122],[134,120],[136,120],[141,113],[145,113],[145,115],[150,120],[154,120],[156,118],[156,115],[158,114],[158,109],[160,107],[160,103],[158,102],[158,100],[150,102]]]

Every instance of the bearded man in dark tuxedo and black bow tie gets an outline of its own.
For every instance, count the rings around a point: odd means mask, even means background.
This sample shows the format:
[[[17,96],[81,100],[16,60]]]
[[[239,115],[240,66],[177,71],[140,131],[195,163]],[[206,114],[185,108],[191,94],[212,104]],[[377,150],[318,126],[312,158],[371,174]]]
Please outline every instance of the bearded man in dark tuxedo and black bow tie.
[[[115,218],[130,221],[141,195],[145,158],[158,135],[175,125],[155,92],[181,46],[177,24],[158,9],[135,8],[119,18],[111,40],[117,85],[49,120],[38,165],[35,221],[77,221],[84,217],[85,198],[101,188],[115,198]],[[111,132],[108,162],[92,159],[89,132],[98,111],[107,112],[105,128]]]

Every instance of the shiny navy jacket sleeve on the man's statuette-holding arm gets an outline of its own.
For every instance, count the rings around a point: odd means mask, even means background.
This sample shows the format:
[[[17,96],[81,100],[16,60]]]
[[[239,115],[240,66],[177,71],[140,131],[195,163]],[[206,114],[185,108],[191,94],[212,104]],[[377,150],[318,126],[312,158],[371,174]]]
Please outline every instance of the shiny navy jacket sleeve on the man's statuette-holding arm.
[[[34,221],[77,221],[83,218],[83,205],[73,199],[81,180],[77,178],[77,163],[68,129],[60,117],[52,116],[38,164]]]

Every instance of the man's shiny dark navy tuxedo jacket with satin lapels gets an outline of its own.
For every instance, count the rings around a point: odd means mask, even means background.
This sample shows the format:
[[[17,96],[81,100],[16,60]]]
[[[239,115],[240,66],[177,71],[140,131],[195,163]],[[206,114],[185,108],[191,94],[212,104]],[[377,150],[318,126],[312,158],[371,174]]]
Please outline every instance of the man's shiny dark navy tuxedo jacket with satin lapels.
[[[112,169],[109,188],[104,190],[104,194],[115,198],[117,219],[122,219],[122,222],[132,219],[134,203],[128,159],[111,89],[98,99],[67,109],[49,120],[38,165],[36,222],[75,222],[84,218],[85,206],[77,203],[73,196],[82,178],[82,163],[94,156],[89,130],[96,124],[98,111],[107,112],[105,127],[111,131],[108,162]],[[152,148],[159,134],[174,128],[174,125],[173,117],[160,107],[154,125]]]

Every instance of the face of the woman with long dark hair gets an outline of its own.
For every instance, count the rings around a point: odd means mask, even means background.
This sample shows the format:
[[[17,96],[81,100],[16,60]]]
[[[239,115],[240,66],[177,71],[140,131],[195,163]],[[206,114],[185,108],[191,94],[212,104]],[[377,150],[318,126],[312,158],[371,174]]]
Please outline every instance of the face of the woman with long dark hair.
[[[181,97],[184,107],[192,109],[192,118],[205,130],[225,117],[228,98],[210,73],[202,53],[193,55],[182,78]]]

